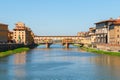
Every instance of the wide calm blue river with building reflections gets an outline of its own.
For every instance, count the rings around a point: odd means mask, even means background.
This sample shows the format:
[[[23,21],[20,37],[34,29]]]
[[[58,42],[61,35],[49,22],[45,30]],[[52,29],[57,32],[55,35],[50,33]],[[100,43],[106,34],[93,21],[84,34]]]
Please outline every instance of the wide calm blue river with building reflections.
[[[0,80],[120,80],[120,57],[38,46],[1,58]]]

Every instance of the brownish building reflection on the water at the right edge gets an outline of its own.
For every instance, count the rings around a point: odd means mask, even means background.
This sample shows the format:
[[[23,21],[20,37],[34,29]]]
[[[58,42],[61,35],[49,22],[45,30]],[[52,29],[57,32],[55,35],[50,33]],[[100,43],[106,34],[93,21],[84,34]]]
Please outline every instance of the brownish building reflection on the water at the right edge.
[[[100,55],[100,56],[97,56],[94,58],[90,58],[90,61],[97,65],[96,71],[98,71],[99,68],[103,68],[103,69],[107,68],[106,70],[108,70],[108,72],[109,72],[107,74],[115,76],[115,78],[116,78],[115,80],[119,80],[119,78],[120,78],[120,57],[109,56],[109,55]],[[99,66],[101,66],[101,67],[99,67]],[[104,70],[102,72],[102,74],[107,72],[106,70]],[[98,73],[98,72],[96,72],[96,73]]]

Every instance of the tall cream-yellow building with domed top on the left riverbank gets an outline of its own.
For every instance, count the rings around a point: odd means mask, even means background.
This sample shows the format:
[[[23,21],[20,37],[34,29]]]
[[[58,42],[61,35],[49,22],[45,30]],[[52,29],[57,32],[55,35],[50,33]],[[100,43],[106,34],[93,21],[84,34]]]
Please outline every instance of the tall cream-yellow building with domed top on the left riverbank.
[[[16,43],[24,43],[24,44],[33,44],[34,43],[34,33],[32,30],[22,22],[18,22],[15,24],[15,28],[13,29],[13,40]]]

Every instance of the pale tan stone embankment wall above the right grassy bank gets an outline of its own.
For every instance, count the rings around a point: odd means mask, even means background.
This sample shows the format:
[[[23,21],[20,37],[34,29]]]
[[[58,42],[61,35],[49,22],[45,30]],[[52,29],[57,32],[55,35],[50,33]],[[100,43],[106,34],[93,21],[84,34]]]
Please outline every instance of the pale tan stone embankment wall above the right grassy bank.
[[[96,44],[98,49],[106,51],[118,51],[120,52],[120,45],[115,44]]]

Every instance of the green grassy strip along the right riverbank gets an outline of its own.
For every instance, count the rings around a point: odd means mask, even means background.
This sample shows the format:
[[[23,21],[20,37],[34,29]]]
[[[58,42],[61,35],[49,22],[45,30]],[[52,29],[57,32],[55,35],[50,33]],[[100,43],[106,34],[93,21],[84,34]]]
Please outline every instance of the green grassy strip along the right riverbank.
[[[120,56],[120,52],[103,51],[103,50],[94,49],[94,48],[87,48],[87,47],[80,47],[80,49],[87,51],[87,52],[97,53],[97,54],[107,54],[107,55],[113,55],[113,56]]]

